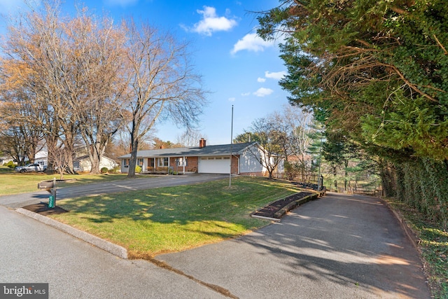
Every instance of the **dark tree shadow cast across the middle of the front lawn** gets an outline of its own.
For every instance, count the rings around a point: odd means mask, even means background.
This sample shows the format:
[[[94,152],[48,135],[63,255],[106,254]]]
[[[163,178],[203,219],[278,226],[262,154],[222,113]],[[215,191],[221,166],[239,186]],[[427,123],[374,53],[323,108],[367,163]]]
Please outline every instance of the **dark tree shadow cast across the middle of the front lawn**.
[[[183,188],[186,188],[185,186]],[[194,188],[194,187],[193,187]],[[165,192],[164,192],[165,191]],[[246,202],[246,197],[234,196],[237,190],[222,190],[219,197],[192,192],[167,193],[153,189],[133,193],[83,197],[59,202],[61,207],[92,223],[112,223],[117,219],[186,224],[192,221],[223,221],[234,223],[235,215],[245,221],[251,211],[266,204],[262,200]]]

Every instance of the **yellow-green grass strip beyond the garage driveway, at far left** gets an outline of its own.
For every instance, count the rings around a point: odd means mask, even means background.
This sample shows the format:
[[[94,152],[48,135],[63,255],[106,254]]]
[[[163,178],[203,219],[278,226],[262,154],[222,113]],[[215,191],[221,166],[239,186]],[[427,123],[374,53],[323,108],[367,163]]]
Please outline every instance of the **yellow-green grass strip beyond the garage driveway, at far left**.
[[[59,179],[59,174],[44,174],[43,172],[29,172],[20,174],[5,166],[0,167],[0,196],[27,193],[38,190],[37,183],[41,181]],[[64,179],[76,179],[69,183],[99,183],[125,179],[126,174],[64,174]],[[64,186],[64,183],[58,183]]]

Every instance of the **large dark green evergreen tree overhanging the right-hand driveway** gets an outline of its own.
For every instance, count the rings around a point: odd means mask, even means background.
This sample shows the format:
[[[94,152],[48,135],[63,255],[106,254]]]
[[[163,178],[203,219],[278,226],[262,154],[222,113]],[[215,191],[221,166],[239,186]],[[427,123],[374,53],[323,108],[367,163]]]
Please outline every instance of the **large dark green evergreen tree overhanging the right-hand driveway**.
[[[328,130],[446,160],[447,16],[444,0],[281,1],[258,18],[258,34],[283,33],[281,86]]]

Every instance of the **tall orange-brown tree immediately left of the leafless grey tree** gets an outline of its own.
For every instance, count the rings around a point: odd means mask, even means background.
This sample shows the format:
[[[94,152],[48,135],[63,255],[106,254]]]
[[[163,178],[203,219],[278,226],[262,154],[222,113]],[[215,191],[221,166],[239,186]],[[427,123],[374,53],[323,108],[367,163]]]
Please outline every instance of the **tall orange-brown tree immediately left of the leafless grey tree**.
[[[123,125],[120,106],[125,95],[123,56],[125,34],[107,18],[97,20],[78,11],[64,24],[67,35],[66,75],[63,86],[79,132],[87,146],[92,173],[99,173],[99,161],[113,134]]]

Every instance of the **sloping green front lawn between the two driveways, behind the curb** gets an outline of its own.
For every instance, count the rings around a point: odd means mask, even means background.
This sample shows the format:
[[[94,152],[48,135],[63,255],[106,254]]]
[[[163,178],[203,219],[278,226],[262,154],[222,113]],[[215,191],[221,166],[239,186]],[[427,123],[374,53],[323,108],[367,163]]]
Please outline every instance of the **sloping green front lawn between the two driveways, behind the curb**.
[[[130,258],[151,258],[244,235],[269,222],[249,214],[299,192],[284,181],[237,177],[191,186],[155,188],[61,200],[57,221],[120,244]]]

